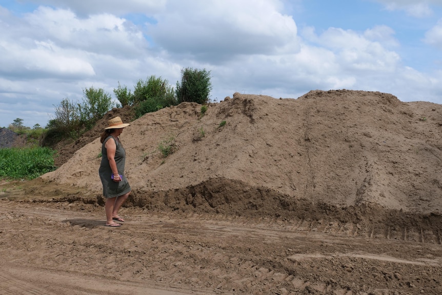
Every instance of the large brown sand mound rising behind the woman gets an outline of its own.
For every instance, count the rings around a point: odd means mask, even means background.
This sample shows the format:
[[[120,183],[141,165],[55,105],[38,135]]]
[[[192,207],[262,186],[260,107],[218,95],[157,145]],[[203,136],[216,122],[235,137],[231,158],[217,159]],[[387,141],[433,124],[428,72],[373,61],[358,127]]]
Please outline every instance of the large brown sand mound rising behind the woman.
[[[331,90],[296,100],[235,93],[204,115],[200,108],[182,103],[125,128],[133,205],[239,214],[306,204],[442,207],[441,105]],[[99,195],[98,136],[41,179]],[[160,145],[174,152],[165,157]]]

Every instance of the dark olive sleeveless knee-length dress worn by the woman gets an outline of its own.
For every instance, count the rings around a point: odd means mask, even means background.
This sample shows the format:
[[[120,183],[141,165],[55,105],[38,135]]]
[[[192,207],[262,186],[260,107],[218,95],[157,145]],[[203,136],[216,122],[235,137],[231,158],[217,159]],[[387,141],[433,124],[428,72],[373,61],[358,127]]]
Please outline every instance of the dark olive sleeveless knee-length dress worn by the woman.
[[[115,182],[111,179],[112,169],[109,165],[109,160],[107,157],[106,142],[108,140],[114,140],[116,144],[115,151],[115,163],[118,169],[118,174],[122,175],[122,181]],[[108,136],[102,145],[102,163],[98,169],[98,174],[103,184],[103,195],[105,198],[115,198],[115,196],[120,196],[131,191],[129,182],[124,175],[124,166],[126,162],[126,151],[119,140],[115,139],[113,136]]]

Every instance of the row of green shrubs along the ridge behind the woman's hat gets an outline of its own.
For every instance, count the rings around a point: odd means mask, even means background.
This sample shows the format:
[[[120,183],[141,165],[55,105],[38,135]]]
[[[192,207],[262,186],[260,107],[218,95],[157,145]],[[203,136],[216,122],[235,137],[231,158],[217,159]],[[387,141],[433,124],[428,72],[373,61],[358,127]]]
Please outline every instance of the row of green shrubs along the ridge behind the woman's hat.
[[[166,79],[151,75],[146,80],[138,80],[133,91],[118,82],[118,87],[113,92],[120,107],[134,108],[135,119],[148,112],[155,112],[181,102],[207,104],[212,89],[210,72],[192,68],[182,69],[181,72],[182,82],[177,82],[176,90]],[[114,107],[110,94],[102,88],[85,88],[83,94],[82,103],[74,102],[67,97],[59,105],[54,106],[55,117],[49,121],[45,134],[45,140],[49,145],[62,140],[78,139]],[[203,107],[202,114],[207,110],[207,106]],[[17,119],[14,124],[21,126],[22,122],[22,119]]]

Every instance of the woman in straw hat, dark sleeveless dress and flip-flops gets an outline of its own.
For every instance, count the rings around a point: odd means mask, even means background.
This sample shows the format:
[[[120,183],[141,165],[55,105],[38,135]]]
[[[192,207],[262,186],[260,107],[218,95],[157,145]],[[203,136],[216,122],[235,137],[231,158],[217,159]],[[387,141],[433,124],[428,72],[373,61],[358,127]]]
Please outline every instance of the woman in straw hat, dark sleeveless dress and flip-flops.
[[[123,128],[130,124],[124,124],[120,117],[114,117],[108,123],[109,126],[101,134],[103,156],[98,173],[106,198],[106,226],[119,227],[122,224],[114,220],[124,222],[118,215],[118,210],[128,198],[131,188],[124,175],[126,151],[118,136],[123,132]]]

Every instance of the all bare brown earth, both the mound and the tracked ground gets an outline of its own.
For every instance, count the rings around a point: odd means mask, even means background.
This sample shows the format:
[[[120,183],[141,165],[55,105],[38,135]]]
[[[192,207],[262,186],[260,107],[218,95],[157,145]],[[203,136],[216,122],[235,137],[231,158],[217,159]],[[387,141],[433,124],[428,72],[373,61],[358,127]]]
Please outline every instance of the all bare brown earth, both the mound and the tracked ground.
[[[104,226],[98,131],[4,182],[0,293],[442,293],[441,105],[336,90],[200,107],[125,128],[121,228]]]

